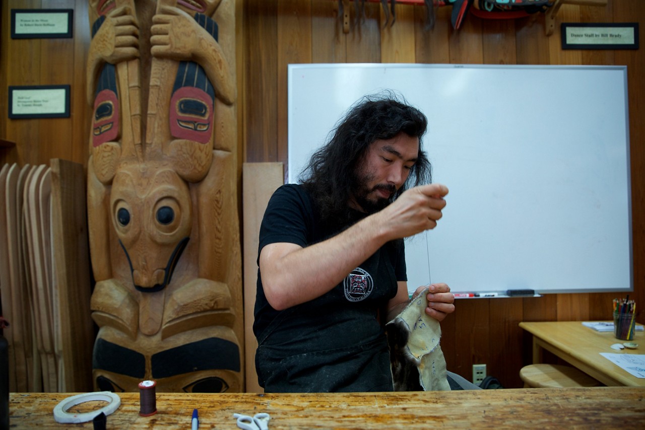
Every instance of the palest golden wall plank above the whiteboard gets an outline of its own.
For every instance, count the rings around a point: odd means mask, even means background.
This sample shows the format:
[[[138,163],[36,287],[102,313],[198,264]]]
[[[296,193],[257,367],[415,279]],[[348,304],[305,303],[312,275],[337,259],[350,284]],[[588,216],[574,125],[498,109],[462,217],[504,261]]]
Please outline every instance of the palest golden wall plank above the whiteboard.
[[[415,19],[410,5],[396,5],[396,21],[381,10],[381,63],[415,63]]]

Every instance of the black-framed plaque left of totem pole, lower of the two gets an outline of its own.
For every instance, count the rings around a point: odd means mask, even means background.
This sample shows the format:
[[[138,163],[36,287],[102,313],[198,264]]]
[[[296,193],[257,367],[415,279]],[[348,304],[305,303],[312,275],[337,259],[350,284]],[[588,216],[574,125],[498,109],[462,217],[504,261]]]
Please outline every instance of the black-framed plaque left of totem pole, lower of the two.
[[[69,85],[9,86],[10,118],[67,118],[69,116]]]

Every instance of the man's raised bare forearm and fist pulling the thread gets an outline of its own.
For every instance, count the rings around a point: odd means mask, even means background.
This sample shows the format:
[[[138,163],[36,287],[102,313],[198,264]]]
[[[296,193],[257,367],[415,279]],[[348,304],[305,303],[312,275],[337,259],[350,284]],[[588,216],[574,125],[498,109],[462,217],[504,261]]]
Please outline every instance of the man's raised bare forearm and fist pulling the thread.
[[[323,242],[306,248],[284,242],[265,246],[260,271],[269,304],[281,310],[320,297],[386,242],[434,228],[447,193],[441,184],[415,187]]]

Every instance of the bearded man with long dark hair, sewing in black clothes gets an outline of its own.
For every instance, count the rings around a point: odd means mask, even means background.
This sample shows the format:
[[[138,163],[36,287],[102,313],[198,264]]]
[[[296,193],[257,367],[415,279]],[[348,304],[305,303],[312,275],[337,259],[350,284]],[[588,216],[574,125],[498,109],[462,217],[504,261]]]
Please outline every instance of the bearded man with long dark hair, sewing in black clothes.
[[[430,184],[426,127],[392,93],[364,97],[301,184],[273,194],[253,324],[265,391],[392,391],[383,323],[408,304],[403,238],[435,228],[448,193]],[[453,302],[446,284],[432,284],[426,313],[441,321]]]

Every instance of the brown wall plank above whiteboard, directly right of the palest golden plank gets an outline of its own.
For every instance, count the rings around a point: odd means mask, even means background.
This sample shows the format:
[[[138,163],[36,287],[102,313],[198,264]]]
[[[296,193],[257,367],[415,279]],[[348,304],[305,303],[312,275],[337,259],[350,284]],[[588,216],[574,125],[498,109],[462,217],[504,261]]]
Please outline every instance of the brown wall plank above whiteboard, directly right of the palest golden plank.
[[[426,6],[414,6],[415,59],[417,63],[450,63],[450,7],[435,8],[435,26],[428,28]]]

